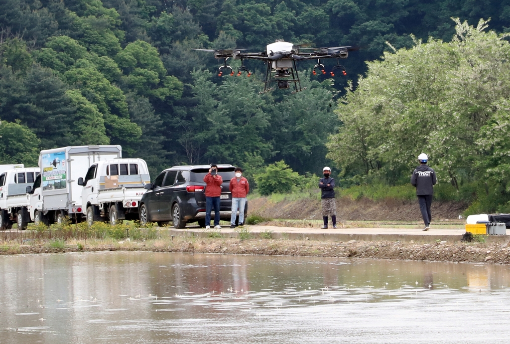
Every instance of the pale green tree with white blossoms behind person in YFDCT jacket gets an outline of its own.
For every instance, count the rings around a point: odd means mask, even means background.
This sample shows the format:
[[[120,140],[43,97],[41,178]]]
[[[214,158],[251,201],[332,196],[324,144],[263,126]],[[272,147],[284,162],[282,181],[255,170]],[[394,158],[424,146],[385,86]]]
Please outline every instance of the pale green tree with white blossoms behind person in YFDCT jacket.
[[[456,22],[450,42],[415,40],[411,49],[368,63],[340,100],[343,122],[328,157],[358,174],[410,175],[427,153],[440,180],[510,178],[510,44],[507,34]],[[510,190],[509,190],[510,191]]]

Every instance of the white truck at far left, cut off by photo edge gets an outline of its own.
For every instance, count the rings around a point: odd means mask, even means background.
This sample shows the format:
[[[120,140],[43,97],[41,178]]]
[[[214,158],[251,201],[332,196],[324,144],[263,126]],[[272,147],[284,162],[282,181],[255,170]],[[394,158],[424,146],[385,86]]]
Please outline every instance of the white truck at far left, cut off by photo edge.
[[[23,166],[23,165],[21,165]],[[12,228],[13,220],[19,230],[27,228],[30,222],[28,207],[30,196],[25,192],[39,176],[38,167],[18,167],[0,174],[0,229]]]

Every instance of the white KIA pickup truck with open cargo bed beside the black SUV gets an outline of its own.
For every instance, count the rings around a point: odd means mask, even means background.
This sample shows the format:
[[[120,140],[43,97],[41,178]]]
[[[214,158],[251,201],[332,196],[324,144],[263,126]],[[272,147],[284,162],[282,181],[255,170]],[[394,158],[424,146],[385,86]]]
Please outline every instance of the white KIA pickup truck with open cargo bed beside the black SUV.
[[[92,164],[83,186],[82,209],[89,226],[95,221],[110,220],[112,225],[123,219],[139,219],[138,204],[150,183],[147,163],[143,159],[112,159]]]

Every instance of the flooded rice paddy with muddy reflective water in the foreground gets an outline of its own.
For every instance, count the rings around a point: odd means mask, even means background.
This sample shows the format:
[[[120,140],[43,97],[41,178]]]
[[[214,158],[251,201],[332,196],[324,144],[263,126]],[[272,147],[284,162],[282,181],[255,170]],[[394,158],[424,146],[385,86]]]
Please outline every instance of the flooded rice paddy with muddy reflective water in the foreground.
[[[150,252],[0,256],[0,343],[494,343],[510,267]]]

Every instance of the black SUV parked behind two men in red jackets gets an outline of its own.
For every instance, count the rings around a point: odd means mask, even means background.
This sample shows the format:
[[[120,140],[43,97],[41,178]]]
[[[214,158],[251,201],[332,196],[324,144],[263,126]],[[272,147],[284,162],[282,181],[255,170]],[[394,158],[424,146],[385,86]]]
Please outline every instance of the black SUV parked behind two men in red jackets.
[[[140,223],[171,221],[175,228],[184,228],[187,223],[198,222],[206,227],[206,183],[203,177],[209,173],[210,165],[173,166],[165,169],[154,182],[145,185],[148,190],[139,205]],[[218,165],[218,174],[223,179],[220,196],[220,219],[230,221],[232,214],[232,193],[228,189],[235,177],[234,166]],[[244,214],[248,202],[244,207]],[[211,212],[214,219],[214,209]],[[237,219],[236,219],[237,224]]]

